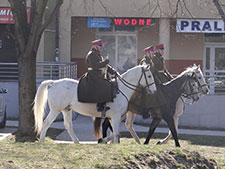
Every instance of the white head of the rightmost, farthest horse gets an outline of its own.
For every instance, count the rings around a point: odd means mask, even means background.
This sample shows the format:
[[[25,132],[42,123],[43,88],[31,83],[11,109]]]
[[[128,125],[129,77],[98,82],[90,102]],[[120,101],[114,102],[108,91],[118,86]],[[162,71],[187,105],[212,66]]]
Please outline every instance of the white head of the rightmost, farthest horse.
[[[193,65],[193,77],[195,77],[195,80],[198,82],[199,92],[204,95],[209,94],[209,88],[200,69],[200,65]]]

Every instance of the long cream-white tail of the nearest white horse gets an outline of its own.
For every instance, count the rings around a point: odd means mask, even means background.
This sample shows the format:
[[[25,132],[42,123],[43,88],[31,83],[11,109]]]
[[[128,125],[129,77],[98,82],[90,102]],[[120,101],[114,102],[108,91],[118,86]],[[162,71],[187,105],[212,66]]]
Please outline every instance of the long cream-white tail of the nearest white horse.
[[[35,119],[35,131],[37,135],[41,133],[43,125],[44,110],[47,103],[48,86],[53,83],[53,80],[43,81],[38,87],[37,93],[34,99],[34,119]]]

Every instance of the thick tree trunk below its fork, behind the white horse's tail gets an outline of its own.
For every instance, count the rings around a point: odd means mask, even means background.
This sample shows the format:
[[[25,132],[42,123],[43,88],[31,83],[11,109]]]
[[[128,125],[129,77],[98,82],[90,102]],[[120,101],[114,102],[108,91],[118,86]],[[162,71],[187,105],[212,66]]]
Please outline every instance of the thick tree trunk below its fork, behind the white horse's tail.
[[[29,55],[26,53],[26,55]],[[19,136],[35,137],[33,101],[36,93],[36,54],[19,56]],[[27,106],[29,105],[29,106]]]

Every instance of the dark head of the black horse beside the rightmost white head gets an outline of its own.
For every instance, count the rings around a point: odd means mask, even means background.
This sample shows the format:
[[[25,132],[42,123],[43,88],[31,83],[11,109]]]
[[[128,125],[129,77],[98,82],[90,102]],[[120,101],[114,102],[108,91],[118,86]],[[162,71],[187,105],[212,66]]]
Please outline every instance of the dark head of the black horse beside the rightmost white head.
[[[199,84],[193,76],[187,76],[187,80],[183,86],[183,93],[187,98],[193,101],[198,101],[199,99]]]

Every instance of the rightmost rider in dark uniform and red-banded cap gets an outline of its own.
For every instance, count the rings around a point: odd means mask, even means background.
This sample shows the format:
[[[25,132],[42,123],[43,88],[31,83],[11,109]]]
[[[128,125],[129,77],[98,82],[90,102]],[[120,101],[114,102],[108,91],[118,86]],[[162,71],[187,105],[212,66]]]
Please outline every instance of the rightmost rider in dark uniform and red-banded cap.
[[[163,54],[164,54],[163,44],[157,45],[155,47],[155,57],[152,59],[152,62],[154,63],[154,74],[157,77],[156,83],[158,84],[165,83],[173,79],[173,76],[166,69]]]

